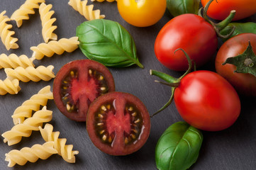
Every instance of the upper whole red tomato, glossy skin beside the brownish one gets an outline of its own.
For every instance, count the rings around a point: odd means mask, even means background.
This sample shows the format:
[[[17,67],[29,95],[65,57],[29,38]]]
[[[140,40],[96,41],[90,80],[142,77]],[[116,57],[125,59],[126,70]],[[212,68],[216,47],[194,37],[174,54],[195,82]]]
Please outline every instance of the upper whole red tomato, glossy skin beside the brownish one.
[[[201,16],[187,13],[172,18],[158,33],[155,40],[155,55],[165,67],[185,71],[189,64],[182,48],[196,67],[208,62],[216,52],[218,38],[210,23]]]

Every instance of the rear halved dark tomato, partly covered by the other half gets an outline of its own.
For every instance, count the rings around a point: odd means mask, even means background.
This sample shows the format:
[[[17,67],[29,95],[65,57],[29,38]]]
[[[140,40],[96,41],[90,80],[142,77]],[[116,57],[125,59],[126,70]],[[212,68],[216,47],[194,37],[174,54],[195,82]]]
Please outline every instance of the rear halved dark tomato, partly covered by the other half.
[[[89,105],[95,98],[115,91],[111,72],[93,60],[65,64],[53,82],[53,97],[61,113],[72,120],[86,121]]]

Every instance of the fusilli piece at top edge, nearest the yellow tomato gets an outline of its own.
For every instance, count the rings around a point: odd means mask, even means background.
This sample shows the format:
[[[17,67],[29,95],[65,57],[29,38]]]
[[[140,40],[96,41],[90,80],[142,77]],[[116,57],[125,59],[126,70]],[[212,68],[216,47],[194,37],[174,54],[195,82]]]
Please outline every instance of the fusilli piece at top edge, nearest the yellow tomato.
[[[100,15],[100,10],[93,10],[94,5],[87,5],[87,0],[69,0],[68,4],[74,8],[74,10],[78,11],[84,18],[87,20],[94,20],[105,18],[104,15]]]

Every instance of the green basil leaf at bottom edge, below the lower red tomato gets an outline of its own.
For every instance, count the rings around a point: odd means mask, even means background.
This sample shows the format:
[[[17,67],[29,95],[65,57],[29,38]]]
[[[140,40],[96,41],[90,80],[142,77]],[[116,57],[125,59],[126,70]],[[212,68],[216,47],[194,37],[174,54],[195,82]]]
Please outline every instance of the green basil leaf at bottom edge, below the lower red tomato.
[[[188,123],[178,122],[169,126],[155,148],[157,169],[189,169],[199,156],[202,141],[201,131]]]

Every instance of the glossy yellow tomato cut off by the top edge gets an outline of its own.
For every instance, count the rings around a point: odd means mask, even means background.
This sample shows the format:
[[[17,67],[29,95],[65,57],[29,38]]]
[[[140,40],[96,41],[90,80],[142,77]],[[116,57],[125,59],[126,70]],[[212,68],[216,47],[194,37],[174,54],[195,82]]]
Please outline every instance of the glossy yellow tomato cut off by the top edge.
[[[146,27],[160,21],[165,13],[166,0],[118,0],[117,7],[126,22]]]

